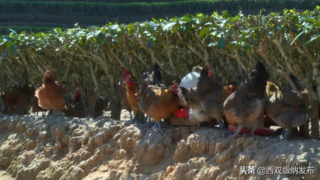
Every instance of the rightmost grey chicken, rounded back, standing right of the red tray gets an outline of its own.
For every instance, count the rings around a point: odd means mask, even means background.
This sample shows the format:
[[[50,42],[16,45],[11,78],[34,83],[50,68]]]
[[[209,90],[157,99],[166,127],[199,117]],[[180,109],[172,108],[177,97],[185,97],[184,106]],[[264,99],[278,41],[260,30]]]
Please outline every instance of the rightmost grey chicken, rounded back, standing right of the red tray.
[[[294,90],[272,93],[266,99],[266,114],[280,127],[286,128],[284,139],[289,139],[293,127],[303,125],[309,119],[301,95]]]

